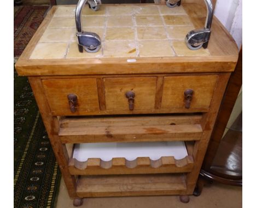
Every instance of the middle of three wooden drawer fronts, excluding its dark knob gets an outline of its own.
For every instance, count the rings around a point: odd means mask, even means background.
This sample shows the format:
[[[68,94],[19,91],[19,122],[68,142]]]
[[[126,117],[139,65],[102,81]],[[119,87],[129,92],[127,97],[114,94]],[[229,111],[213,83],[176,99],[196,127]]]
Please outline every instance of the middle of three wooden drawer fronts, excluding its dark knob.
[[[104,89],[107,111],[132,113],[155,107],[156,77],[104,78]],[[129,91],[135,95],[133,109],[126,96]]]

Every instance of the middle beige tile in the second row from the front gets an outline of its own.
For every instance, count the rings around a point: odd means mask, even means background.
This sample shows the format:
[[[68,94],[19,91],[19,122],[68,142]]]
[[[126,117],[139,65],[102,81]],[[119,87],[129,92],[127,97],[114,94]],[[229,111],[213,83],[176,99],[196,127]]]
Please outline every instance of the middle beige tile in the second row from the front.
[[[107,28],[106,40],[134,40],[135,29],[129,27],[123,28]]]

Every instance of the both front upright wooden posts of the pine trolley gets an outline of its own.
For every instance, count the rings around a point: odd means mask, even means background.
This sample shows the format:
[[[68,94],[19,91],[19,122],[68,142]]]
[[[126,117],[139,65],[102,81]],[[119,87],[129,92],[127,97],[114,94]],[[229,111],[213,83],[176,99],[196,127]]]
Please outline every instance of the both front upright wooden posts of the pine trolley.
[[[216,83],[216,88],[213,93],[210,110],[202,114],[201,127],[203,132],[201,139],[196,140],[194,144],[194,149],[191,154],[194,159],[194,166],[191,172],[187,174],[187,188],[185,191],[182,192],[183,195],[193,194],[196,180],[202,165],[203,157],[206,152],[207,144],[210,140],[210,135],[217,117],[220,101],[222,100],[222,96],[224,94],[229,76],[230,73],[218,74],[218,79]],[[36,97],[36,101],[39,107],[39,111],[41,112],[46,131],[49,134],[51,145],[53,146],[57,161],[59,162],[61,173],[67,186],[69,196],[75,198],[78,197],[76,193],[77,182],[75,181],[74,175],[71,175],[69,171],[68,152],[65,143],[63,143],[63,141],[61,142],[59,136],[59,121],[57,116],[54,116],[51,113],[49,103],[46,99],[45,90],[43,88],[42,78],[44,77],[29,77],[29,81],[34,91],[34,96]],[[158,93],[161,93],[161,91],[159,91]]]

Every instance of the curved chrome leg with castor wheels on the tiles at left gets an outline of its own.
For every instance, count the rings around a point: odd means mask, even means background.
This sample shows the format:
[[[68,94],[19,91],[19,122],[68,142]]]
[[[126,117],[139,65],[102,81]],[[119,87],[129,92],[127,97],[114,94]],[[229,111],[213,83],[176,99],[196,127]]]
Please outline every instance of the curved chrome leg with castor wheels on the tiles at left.
[[[82,9],[88,1],[89,8],[96,11],[101,5],[101,0],[79,0],[75,8],[75,26],[77,26],[78,50],[83,53],[95,53],[101,48],[101,38],[96,33],[84,32],[82,27]]]

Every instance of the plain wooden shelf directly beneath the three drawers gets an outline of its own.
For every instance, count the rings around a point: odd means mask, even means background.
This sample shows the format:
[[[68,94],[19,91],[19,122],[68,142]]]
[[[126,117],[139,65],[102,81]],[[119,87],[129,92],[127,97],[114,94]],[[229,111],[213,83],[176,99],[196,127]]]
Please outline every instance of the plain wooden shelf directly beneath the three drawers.
[[[61,118],[62,143],[199,140],[201,115]]]

